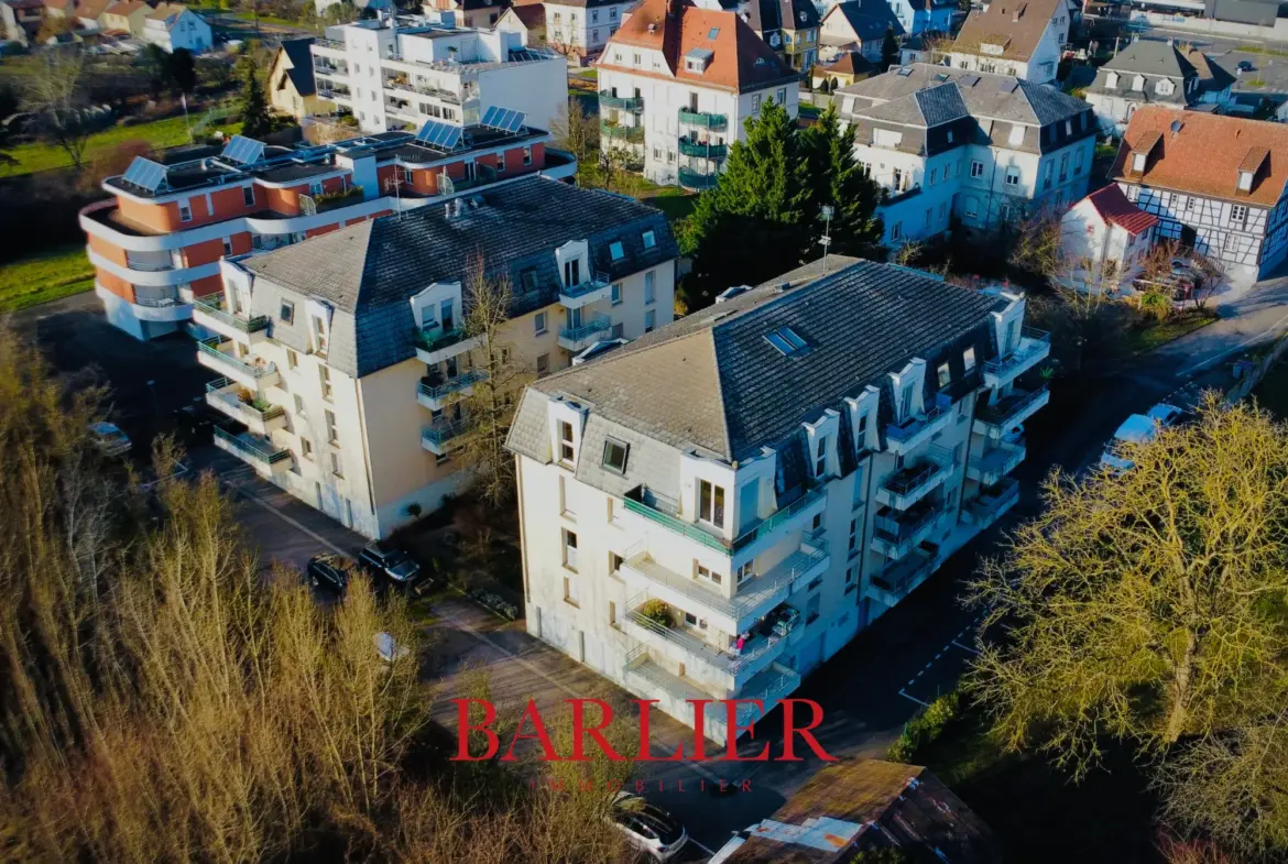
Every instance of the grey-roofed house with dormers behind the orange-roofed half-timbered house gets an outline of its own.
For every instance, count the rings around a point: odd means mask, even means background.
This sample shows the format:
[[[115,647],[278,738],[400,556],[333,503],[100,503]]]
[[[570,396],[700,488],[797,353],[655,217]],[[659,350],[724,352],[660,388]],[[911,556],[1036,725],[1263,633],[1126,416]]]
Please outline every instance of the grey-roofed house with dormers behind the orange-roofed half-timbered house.
[[[1139,40],[1096,70],[1084,98],[1105,131],[1122,135],[1141,106],[1224,106],[1233,84],[1234,76],[1199,50],[1182,53],[1171,41]]]

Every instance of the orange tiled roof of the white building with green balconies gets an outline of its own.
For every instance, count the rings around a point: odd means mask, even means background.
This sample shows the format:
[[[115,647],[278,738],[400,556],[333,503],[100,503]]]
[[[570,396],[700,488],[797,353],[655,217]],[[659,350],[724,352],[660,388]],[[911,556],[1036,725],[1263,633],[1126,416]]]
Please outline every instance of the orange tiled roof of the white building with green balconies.
[[[715,39],[711,37],[712,32]],[[638,45],[662,52],[671,75],[630,67],[634,75],[685,81],[697,86],[746,93],[799,76],[737,13],[698,9],[689,0],[644,0],[613,33],[596,66],[613,68],[614,46]],[[693,49],[712,52],[703,72],[684,68]]]

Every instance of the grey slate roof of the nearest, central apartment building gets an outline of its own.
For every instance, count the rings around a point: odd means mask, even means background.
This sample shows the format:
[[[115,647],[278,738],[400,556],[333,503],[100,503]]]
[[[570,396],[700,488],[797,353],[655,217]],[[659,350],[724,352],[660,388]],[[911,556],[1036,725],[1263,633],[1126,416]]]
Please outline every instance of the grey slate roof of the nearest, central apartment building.
[[[947,355],[956,380],[965,375],[961,346],[974,345],[980,363],[994,352],[988,313],[1003,299],[872,261],[804,278],[781,291],[781,277],[542,379],[524,398],[511,449],[547,458],[545,400],[571,397],[659,446],[729,461],[766,446],[782,452],[801,422],[867,385],[884,386],[913,357]],[[786,357],[769,344],[765,335],[784,326],[808,343],[805,353]]]

